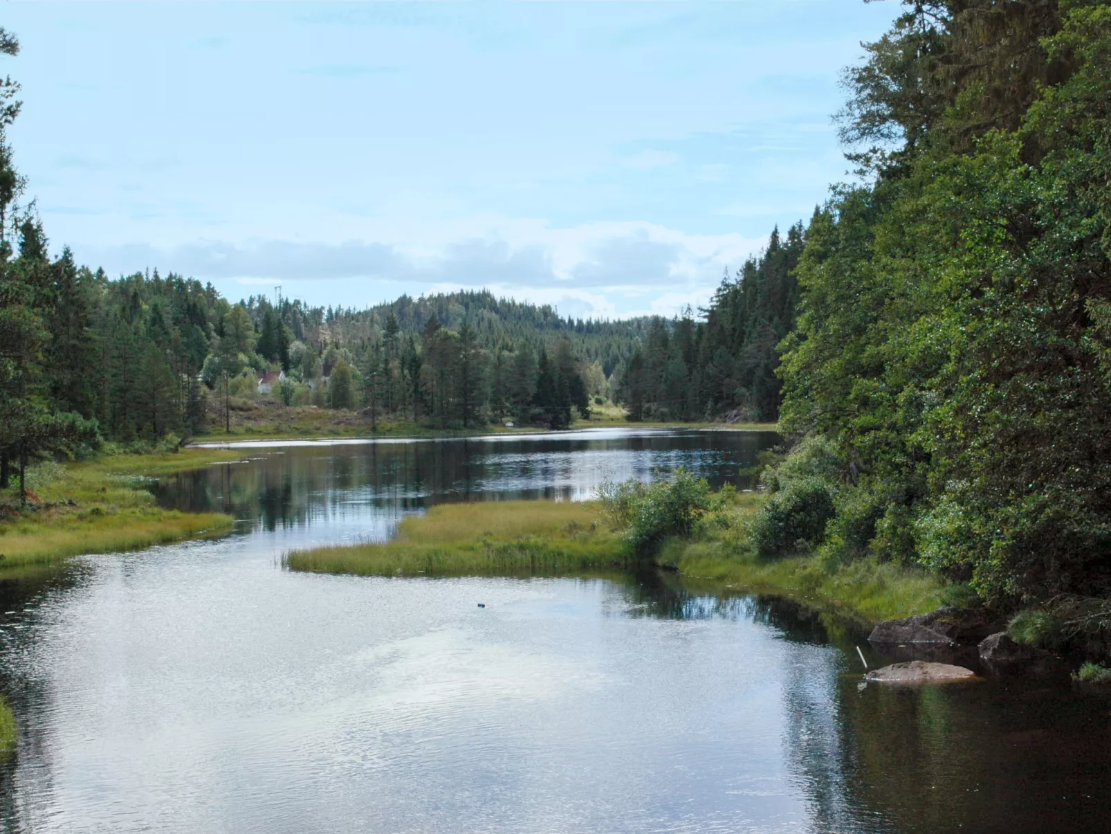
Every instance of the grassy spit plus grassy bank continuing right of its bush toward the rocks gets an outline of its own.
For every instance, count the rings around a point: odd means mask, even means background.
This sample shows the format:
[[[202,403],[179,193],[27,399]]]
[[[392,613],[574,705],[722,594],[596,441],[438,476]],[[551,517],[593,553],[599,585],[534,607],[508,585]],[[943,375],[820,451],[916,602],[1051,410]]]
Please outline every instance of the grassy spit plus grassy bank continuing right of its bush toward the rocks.
[[[869,623],[942,604],[943,584],[924,570],[829,565],[812,555],[759,559],[747,547],[745,526],[761,500],[739,495],[712,524],[665,542],[651,562],[719,592],[781,596]],[[292,570],[363,576],[551,575],[643,565],[602,523],[599,505],[547,500],[439,505],[406,518],[391,542],[296,550],[283,563]]]

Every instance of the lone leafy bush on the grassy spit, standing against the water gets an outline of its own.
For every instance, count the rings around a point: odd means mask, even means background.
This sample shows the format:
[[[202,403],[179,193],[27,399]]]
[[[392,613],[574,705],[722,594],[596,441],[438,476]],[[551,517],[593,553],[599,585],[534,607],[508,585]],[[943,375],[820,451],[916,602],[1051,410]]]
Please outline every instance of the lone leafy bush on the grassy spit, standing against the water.
[[[610,524],[623,529],[638,553],[654,549],[669,536],[688,536],[711,508],[710,485],[684,468],[652,484],[607,481],[598,497]]]

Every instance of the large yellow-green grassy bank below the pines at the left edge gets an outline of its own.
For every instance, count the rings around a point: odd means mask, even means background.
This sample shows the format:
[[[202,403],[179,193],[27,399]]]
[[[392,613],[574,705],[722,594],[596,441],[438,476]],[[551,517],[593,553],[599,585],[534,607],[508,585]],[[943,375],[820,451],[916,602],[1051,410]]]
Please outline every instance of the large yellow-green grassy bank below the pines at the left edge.
[[[38,502],[21,508],[14,488],[0,496],[0,567],[227,533],[230,516],[162,509],[143,479],[238,458],[223,449],[186,449],[34,467],[28,486]]]

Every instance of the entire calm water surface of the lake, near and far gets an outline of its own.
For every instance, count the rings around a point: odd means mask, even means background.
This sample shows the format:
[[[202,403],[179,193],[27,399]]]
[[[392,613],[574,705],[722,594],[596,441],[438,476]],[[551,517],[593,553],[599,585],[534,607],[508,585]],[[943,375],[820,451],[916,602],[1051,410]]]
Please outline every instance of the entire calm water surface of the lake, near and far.
[[[218,542],[0,583],[18,832],[1098,832],[1111,702],[1053,679],[863,686],[860,635],[671,576],[283,570],[437,502],[575,499],[774,441],[608,430],[311,444],[160,485]],[[484,603],[484,608],[478,608]]]

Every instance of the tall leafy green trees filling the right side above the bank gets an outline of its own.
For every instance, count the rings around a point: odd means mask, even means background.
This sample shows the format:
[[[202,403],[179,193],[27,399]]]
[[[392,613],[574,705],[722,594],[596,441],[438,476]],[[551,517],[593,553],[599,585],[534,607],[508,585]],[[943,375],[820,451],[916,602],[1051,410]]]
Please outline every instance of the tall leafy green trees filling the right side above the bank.
[[[908,3],[845,86],[761,550],[1111,596],[1111,4]]]

